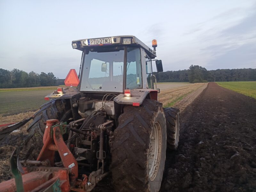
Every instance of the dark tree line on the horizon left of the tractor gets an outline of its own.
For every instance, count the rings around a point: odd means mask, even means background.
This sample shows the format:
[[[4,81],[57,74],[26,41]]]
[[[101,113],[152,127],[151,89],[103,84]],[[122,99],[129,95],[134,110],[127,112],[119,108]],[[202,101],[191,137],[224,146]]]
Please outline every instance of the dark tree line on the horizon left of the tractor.
[[[19,69],[9,71],[0,68],[0,88],[54,86],[58,84],[62,84],[62,80],[59,81],[52,72],[38,74],[34,71],[27,73]]]

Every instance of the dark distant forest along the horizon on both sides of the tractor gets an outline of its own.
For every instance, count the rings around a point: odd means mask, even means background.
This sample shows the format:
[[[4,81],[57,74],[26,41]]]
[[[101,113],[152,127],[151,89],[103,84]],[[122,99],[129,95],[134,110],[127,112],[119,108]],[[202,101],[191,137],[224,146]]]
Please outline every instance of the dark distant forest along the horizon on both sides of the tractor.
[[[212,82],[214,81],[256,81],[256,69],[217,69],[207,71],[198,65],[179,71],[165,71],[154,74],[157,82]],[[63,85],[64,79],[58,79],[52,72],[40,74],[0,68],[0,88],[38,87]]]

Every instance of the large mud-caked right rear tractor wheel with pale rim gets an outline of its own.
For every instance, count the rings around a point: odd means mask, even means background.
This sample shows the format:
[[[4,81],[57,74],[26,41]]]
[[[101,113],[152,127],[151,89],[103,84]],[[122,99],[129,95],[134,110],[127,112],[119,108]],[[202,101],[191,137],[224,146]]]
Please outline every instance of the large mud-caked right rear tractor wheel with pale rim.
[[[127,105],[118,123],[111,144],[114,187],[117,191],[159,191],[166,152],[162,104],[146,99],[139,107]]]

